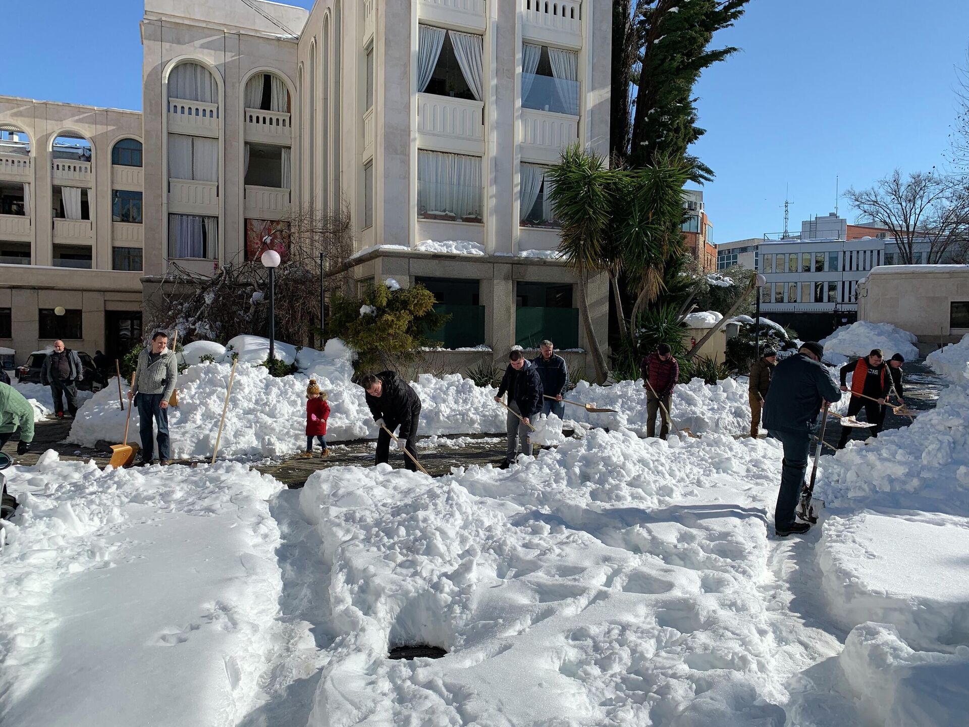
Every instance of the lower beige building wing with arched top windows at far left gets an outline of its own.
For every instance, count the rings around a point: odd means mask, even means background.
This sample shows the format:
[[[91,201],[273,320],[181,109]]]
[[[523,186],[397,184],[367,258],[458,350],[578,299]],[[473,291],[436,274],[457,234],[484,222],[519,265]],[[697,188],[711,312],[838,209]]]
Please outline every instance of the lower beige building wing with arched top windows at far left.
[[[0,96],[0,347],[141,336],[141,113]]]

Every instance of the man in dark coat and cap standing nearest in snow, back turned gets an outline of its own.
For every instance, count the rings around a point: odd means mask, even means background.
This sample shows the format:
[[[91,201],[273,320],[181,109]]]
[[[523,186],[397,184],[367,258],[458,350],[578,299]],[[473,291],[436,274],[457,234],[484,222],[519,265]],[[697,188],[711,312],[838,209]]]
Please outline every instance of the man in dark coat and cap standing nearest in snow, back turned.
[[[825,401],[841,398],[838,385],[821,363],[824,355],[825,349],[820,343],[802,344],[795,356],[774,368],[764,402],[767,433],[784,445],[781,488],[774,507],[774,530],[781,537],[807,532],[810,528],[807,522],[795,522],[795,510],[804,487],[811,427]]]

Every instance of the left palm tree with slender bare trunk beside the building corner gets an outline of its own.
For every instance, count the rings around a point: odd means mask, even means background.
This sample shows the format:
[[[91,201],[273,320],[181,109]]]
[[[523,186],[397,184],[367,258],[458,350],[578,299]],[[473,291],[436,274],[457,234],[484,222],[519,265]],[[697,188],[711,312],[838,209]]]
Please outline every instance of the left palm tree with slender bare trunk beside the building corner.
[[[600,154],[585,153],[572,144],[562,152],[561,162],[547,176],[552,184],[551,201],[562,232],[558,249],[578,278],[578,314],[592,353],[599,382],[609,377],[609,364],[592,328],[587,298],[588,275],[608,267],[607,245],[615,173]]]

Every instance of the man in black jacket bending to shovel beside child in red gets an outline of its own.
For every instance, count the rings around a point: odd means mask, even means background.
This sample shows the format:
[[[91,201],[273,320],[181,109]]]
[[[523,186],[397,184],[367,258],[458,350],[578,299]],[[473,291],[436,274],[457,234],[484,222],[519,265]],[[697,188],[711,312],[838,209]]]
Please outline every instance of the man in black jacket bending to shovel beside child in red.
[[[366,405],[370,407],[377,432],[376,464],[386,462],[391,454],[391,435],[383,427],[393,431],[398,426],[397,447],[406,449],[413,459],[404,456],[404,466],[416,472],[418,465],[418,425],[421,421],[421,398],[411,385],[400,379],[393,371],[368,373],[360,379],[366,392]]]

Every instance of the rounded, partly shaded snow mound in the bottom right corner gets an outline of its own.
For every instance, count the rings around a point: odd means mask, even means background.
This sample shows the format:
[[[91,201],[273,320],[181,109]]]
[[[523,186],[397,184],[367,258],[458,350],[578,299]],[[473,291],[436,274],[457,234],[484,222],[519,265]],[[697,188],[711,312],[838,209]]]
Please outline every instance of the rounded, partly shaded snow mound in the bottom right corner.
[[[969,648],[916,651],[886,623],[852,629],[838,664],[859,711],[884,727],[956,725],[966,720]]]

